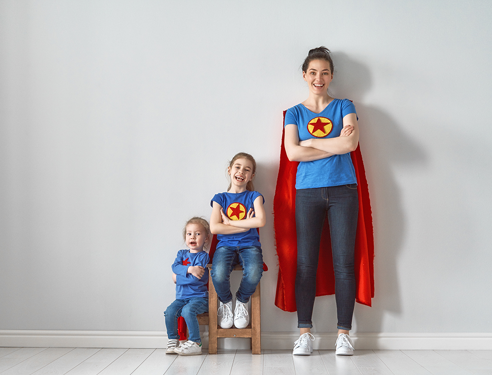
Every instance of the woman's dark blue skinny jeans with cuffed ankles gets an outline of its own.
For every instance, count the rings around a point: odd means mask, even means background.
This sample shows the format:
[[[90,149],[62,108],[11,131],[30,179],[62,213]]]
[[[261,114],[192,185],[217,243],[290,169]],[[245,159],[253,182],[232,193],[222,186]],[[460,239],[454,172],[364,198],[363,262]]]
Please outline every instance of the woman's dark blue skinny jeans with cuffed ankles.
[[[299,328],[312,328],[321,231],[325,217],[335,272],[338,329],[350,330],[355,306],[354,252],[359,200],[357,185],[299,189],[296,192],[296,304]]]

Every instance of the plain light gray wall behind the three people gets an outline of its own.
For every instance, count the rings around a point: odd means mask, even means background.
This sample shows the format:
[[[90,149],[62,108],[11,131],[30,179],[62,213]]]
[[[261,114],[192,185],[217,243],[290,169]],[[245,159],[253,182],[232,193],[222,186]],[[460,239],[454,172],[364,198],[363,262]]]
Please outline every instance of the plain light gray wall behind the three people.
[[[164,330],[194,215],[256,157],[274,304],[282,111],[307,51],[354,100],[376,239],[358,332],[492,332],[492,2],[0,1],[0,329]],[[489,292],[490,293],[490,292]],[[336,329],[320,297],[314,329]]]

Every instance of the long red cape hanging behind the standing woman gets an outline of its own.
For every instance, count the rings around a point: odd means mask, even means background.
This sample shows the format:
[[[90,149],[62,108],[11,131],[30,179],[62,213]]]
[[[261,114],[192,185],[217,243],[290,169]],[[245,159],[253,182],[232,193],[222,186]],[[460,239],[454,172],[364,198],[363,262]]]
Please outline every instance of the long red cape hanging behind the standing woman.
[[[283,117],[285,121],[285,112]],[[278,255],[278,280],[275,305],[284,310],[294,312],[296,308],[295,281],[297,272],[297,234],[296,234],[296,161],[287,158],[283,144],[285,130],[282,131],[280,146],[280,166],[278,169],[277,187],[274,198],[274,229]],[[359,193],[359,219],[355,239],[355,278],[357,282],[356,301],[371,306],[374,297],[374,236],[372,232],[372,214],[369,201],[369,189],[366,172],[359,146],[351,153],[357,177]],[[328,220],[323,226],[318,261],[320,267],[331,272],[317,272],[316,296],[335,294],[335,276]]]

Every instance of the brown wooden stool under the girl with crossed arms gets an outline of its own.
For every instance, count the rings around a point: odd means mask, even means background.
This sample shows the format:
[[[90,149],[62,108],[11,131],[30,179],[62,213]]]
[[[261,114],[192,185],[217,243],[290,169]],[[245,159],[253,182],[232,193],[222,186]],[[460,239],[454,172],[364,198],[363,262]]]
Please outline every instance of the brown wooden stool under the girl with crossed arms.
[[[212,264],[207,265],[212,269]],[[243,267],[239,264],[234,267],[234,271],[242,271]],[[238,328],[220,328],[217,326],[217,293],[215,292],[214,283],[209,276],[209,354],[217,354],[217,338],[219,337],[250,337],[252,354],[261,354],[261,322],[260,322],[260,283],[256,286],[256,290],[251,296],[251,316],[250,324],[244,329]],[[200,315],[198,315],[200,316]],[[205,316],[199,317],[204,321]]]

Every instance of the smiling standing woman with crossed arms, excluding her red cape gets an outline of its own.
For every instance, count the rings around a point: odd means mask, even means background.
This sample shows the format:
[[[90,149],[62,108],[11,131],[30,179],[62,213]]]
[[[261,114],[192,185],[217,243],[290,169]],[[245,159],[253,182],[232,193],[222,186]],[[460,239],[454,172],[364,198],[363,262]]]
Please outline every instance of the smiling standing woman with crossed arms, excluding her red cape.
[[[328,94],[333,61],[327,48],[309,51],[303,63],[303,78],[309,96],[287,110],[284,123],[287,156],[300,162],[296,176],[296,305],[301,335],[293,354],[312,352],[316,270],[321,231],[328,216],[338,315],[336,354],[352,355],[348,334],[355,305],[354,248],[359,202],[350,152],[359,143],[357,114],[350,100]]]

